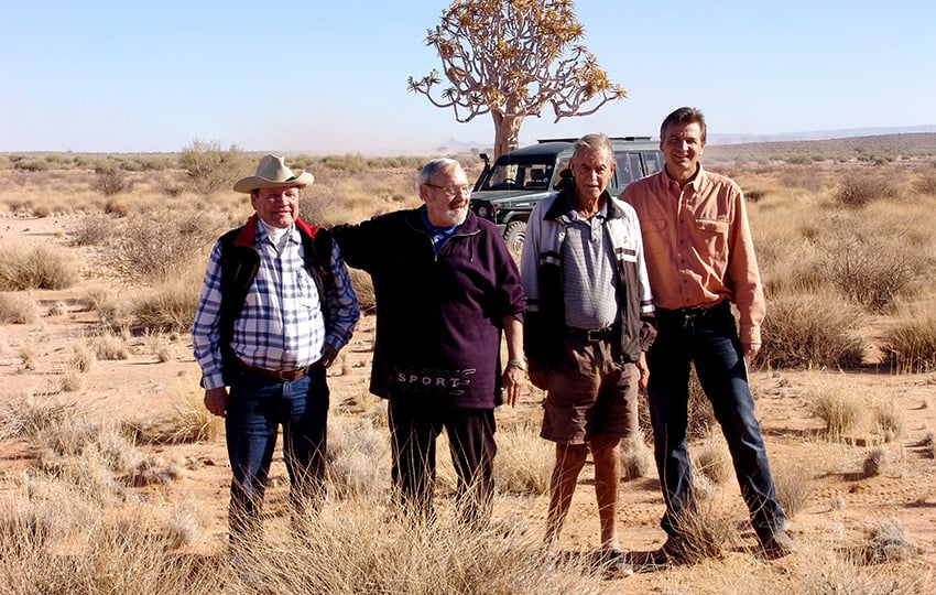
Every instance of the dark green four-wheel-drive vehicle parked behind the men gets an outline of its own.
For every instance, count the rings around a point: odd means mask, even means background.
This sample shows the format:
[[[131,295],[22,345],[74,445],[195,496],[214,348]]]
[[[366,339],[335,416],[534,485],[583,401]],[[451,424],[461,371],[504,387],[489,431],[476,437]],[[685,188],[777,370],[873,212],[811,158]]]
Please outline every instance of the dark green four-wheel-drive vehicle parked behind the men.
[[[568,163],[576,140],[543,139],[502,154],[493,165],[481,154],[485,170],[471,193],[471,210],[498,224],[516,258],[523,249],[526,219],[533,207],[572,180]],[[611,145],[618,162],[608,183],[611,196],[618,196],[634,180],[663,169],[663,153],[650,137],[612,137]]]

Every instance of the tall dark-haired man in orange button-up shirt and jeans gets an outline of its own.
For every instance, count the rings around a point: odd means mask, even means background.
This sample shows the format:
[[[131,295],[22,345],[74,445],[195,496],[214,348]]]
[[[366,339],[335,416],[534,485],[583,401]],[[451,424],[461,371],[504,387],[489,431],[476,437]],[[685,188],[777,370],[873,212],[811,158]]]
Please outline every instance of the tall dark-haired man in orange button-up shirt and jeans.
[[[668,539],[661,558],[685,560],[693,544],[683,518],[696,513],[686,445],[689,364],[721,425],[741,495],[766,558],[795,550],[784,530],[766,450],[748,385],[761,347],[764,296],[741,188],[707,172],[703,113],[679,108],[660,128],[664,171],[628,186],[620,198],[638,213],[657,337],[646,355],[654,454]],[[736,329],[731,303],[738,309]]]

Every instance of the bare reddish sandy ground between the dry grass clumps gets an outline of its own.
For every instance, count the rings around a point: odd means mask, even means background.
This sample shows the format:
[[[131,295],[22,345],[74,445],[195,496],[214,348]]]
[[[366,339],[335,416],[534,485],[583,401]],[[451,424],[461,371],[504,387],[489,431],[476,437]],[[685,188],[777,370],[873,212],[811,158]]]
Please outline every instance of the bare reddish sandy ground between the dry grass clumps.
[[[0,246],[43,242],[65,247],[65,232],[74,220],[67,217],[0,219]],[[77,249],[69,248],[69,250]],[[78,253],[80,257],[80,253]],[[97,361],[85,376],[85,386],[75,392],[62,392],[72,346],[91,333],[98,315],[86,309],[85,280],[64,291],[34,291],[43,316],[36,324],[0,326],[0,403],[32,399],[36,402],[80,402],[111,419],[156,416],[170,407],[173,396],[197,390],[198,368],[187,336],[171,344],[173,357],[160,363],[143,337],[129,339],[130,356],[115,361]],[[120,291],[116,288],[115,291]],[[47,315],[55,305],[64,311]],[[329,372],[333,410],[345,401],[360,400],[366,393],[370,366],[373,320],[362,320],[342,359]],[[22,354],[30,353],[32,366],[24,366]],[[883,446],[890,463],[881,475],[864,477],[862,463],[874,446],[873,436],[859,435],[850,441],[829,441],[817,436],[823,422],[813,414],[805,397],[810,387],[853,388],[861,394],[877,394],[893,401],[903,422],[903,432]],[[629,592],[672,592],[690,585],[694,593],[708,592],[699,577],[736,573],[768,575],[779,585],[795,585],[796,576],[810,565],[810,558],[828,549],[856,549],[867,541],[867,531],[875,523],[896,520],[917,543],[919,555],[901,564],[883,564],[880,572],[922,573],[936,566],[936,463],[933,447],[925,441],[936,429],[936,375],[891,375],[869,368],[861,372],[838,371],[757,371],[752,375],[761,421],[771,463],[775,472],[805,468],[813,478],[806,505],[790,522],[790,531],[801,543],[801,552],[786,559],[763,562],[753,555],[753,533],[745,529],[744,547],[722,560],[705,561],[689,569],[639,573],[627,583]],[[512,418],[538,419],[542,396],[531,390],[515,409],[498,411],[500,421]],[[156,447],[156,454],[185,457],[191,470],[182,479],[163,486],[165,501],[196,499],[217,511],[206,537],[206,548],[219,547],[225,536],[225,510],[229,467],[224,436],[208,444]],[[0,443],[0,495],[14,489],[17,477],[30,464],[31,453],[22,443]],[[274,470],[275,474],[275,470]],[[279,467],[279,479],[285,472]],[[274,483],[271,500],[281,500],[282,482]],[[664,540],[659,529],[663,504],[655,478],[621,484],[619,531],[621,544],[632,551],[650,551]],[[747,518],[737,483],[729,479],[718,486],[709,502],[726,508],[744,527]],[[499,500],[496,516],[522,517],[531,531],[542,532],[546,497]],[[598,522],[590,464],[580,477],[579,488],[563,533],[560,547],[587,551],[597,547]],[[712,585],[718,582],[710,582]],[[723,582],[721,583],[723,585]],[[743,583],[739,583],[742,585]],[[622,586],[623,588],[623,586]],[[739,586],[743,591],[742,586]]]

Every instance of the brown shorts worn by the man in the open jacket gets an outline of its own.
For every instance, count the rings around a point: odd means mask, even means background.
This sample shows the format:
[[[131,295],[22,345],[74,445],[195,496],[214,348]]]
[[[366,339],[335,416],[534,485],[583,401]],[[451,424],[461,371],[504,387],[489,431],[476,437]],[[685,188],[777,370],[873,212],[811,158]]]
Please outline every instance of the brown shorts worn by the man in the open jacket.
[[[558,369],[546,369],[546,400],[540,436],[586,444],[595,435],[638,435],[636,365],[614,361],[607,340],[566,337]]]

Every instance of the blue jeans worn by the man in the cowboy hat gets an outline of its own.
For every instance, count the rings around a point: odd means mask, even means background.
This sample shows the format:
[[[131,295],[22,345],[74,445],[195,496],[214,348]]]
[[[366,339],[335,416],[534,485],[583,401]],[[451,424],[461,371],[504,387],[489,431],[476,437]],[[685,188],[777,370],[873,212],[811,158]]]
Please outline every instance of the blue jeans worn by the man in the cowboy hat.
[[[290,475],[294,515],[318,506],[325,491],[328,386],[325,368],[283,381],[244,369],[231,380],[225,420],[231,464],[230,531],[233,537],[260,531],[260,513],[279,426]]]

